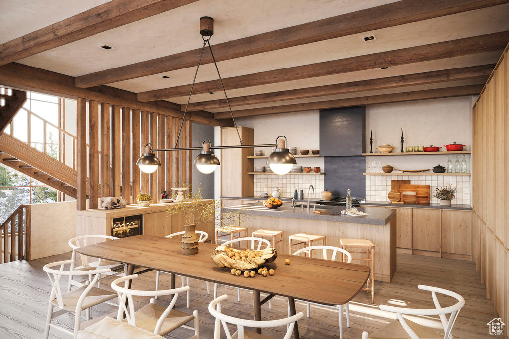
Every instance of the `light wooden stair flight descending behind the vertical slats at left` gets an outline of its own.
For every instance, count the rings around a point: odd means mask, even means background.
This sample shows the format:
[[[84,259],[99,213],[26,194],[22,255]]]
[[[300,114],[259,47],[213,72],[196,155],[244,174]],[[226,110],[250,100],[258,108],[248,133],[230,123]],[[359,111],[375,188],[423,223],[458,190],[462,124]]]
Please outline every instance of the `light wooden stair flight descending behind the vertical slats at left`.
[[[9,134],[0,135],[0,163],[76,198],[76,170]]]

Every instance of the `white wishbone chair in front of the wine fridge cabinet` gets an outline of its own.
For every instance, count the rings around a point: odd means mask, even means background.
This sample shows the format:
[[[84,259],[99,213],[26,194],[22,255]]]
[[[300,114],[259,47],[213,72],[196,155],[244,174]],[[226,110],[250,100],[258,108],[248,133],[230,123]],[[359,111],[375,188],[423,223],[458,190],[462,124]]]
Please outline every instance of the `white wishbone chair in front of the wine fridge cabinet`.
[[[78,254],[79,254],[79,258],[81,260],[81,265],[75,266],[76,253],[77,253],[75,251],[76,249],[83,247],[83,246],[98,243],[101,241],[109,241],[109,240],[116,240],[116,239],[118,239],[118,238],[114,237],[114,236],[110,236],[110,235],[90,234],[90,235],[77,236],[77,237],[74,237],[71,240],[69,240],[68,244],[72,249],[71,260],[73,261],[71,263],[70,270],[86,271],[86,270],[90,270],[90,269],[109,268],[111,270],[111,272],[103,273],[106,276],[101,277],[101,275],[99,275],[99,281],[97,283],[97,287],[99,287],[99,288],[101,287],[101,281],[103,281],[105,279],[111,278],[112,276],[121,275],[121,274],[123,274],[125,276],[125,274],[127,272],[127,264],[122,264],[117,261],[89,257],[86,255],[82,255],[80,253],[78,253]],[[124,268],[124,271],[123,272],[114,272],[115,270],[117,270],[119,268]],[[85,274],[81,273],[81,274],[76,274],[76,275],[85,275]],[[83,281],[86,281],[86,280],[83,280]],[[73,275],[69,275],[69,284],[67,286],[67,292],[71,291],[71,286],[78,286],[78,287],[81,286],[83,281],[77,282],[77,281],[73,280]]]

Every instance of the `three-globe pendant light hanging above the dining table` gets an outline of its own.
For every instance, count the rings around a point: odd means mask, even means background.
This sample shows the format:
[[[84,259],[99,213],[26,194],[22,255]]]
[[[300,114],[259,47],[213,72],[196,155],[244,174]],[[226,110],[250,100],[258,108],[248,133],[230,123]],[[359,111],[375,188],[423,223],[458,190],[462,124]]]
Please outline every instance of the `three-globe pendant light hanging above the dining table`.
[[[151,144],[147,144],[145,146],[145,153],[143,153],[142,157],[138,159],[136,165],[139,166],[139,169],[145,173],[152,173],[157,169],[157,166],[161,165],[159,159],[156,158],[153,152],[163,152],[163,151],[190,151],[190,150],[201,150],[201,154],[194,159],[193,164],[196,168],[202,173],[212,173],[217,166],[220,165],[219,159],[214,155],[213,149],[227,149],[227,148],[254,148],[254,147],[276,147],[276,150],[271,153],[267,160],[267,164],[270,165],[270,168],[276,174],[286,174],[290,172],[293,165],[297,164],[295,157],[290,153],[287,147],[288,140],[285,136],[278,136],[276,138],[275,144],[264,144],[264,145],[243,145],[242,139],[240,138],[239,130],[237,128],[237,124],[235,122],[235,117],[233,116],[232,108],[230,107],[230,102],[228,101],[228,96],[226,94],[226,90],[224,89],[224,85],[221,79],[221,75],[219,74],[219,69],[217,68],[216,59],[214,57],[214,53],[212,53],[212,47],[210,46],[210,37],[214,34],[214,20],[210,17],[202,17],[200,19],[200,34],[203,38],[203,48],[200,54],[200,60],[198,61],[198,66],[196,67],[196,73],[194,74],[194,79],[191,85],[191,92],[189,93],[189,98],[187,100],[187,105],[184,110],[184,115],[180,122],[179,134],[177,136],[177,142],[175,144],[175,148],[165,148],[165,149],[152,149]],[[206,38],[208,37],[208,38]],[[215,146],[212,147],[212,144],[209,140],[205,140],[202,144],[202,147],[187,147],[187,148],[177,148],[179,144],[180,134],[182,132],[182,126],[184,124],[184,118],[187,113],[187,108],[189,106],[189,102],[191,100],[192,90],[194,88],[194,83],[196,82],[196,76],[198,74],[198,70],[200,69],[200,64],[202,62],[203,52],[206,46],[209,46],[210,54],[212,56],[212,60],[214,61],[214,66],[217,71],[217,76],[219,77],[219,81],[221,82],[221,87],[223,89],[224,97],[228,103],[228,108],[230,109],[230,114],[232,115],[233,124],[235,126],[235,130],[237,131],[237,136],[239,137],[240,145],[237,146]],[[279,138],[284,138],[285,140],[279,140]],[[150,147],[149,147],[150,145]]]

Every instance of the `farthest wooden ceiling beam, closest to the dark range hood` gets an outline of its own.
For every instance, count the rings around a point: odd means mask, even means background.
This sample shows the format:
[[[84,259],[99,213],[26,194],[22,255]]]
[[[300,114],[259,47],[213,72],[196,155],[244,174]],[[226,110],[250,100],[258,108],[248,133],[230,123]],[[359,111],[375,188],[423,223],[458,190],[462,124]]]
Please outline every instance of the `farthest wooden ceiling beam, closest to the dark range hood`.
[[[471,96],[471,95],[478,95],[480,93],[480,91],[483,89],[483,86],[484,85],[469,85],[469,86],[461,86],[461,87],[437,88],[437,89],[419,90],[419,91],[413,91],[413,92],[383,94],[383,95],[369,96],[369,97],[348,98],[348,99],[338,99],[338,100],[329,100],[329,101],[317,101],[317,102],[303,103],[303,104],[252,108],[252,109],[233,111],[233,115],[237,118],[237,117],[252,116],[252,115],[290,113],[290,112],[310,111],[310,110],[317,110],[317,109],[338,108],[338,107],[348,107],[348,106],[374,105],[374,104],[386,104],[386,103],[402,102],[402,101]],[[214,117],[216,119],[223,119],[223,118],[227,118],[229,116],[231,116],[230,112],[214,113]]]

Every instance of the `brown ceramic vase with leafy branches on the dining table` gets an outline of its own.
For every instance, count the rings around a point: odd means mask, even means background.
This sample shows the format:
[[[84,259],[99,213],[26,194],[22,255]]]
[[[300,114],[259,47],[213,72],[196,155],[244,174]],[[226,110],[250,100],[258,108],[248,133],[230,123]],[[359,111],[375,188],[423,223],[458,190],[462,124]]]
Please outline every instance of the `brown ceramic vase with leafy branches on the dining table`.
[[[187,187],[187,185],[184,185]],[[196,234],[196,225],[201,223],[213,222],[220,227],[228,228],[225,224],[231,222],[239,222],[239,212],[231,213],[217,213],[221,211],[220,199],[215,199],[214,202],[203,204],[202,188],[197,187],[194,192],[184,193],[184,199],[178,202],[178,208],[166,207],[166,212],[169,215],[181,214],[185,221],[185,234],[182,236],[182,253],[185,255],[198,253],[200,237]]]

